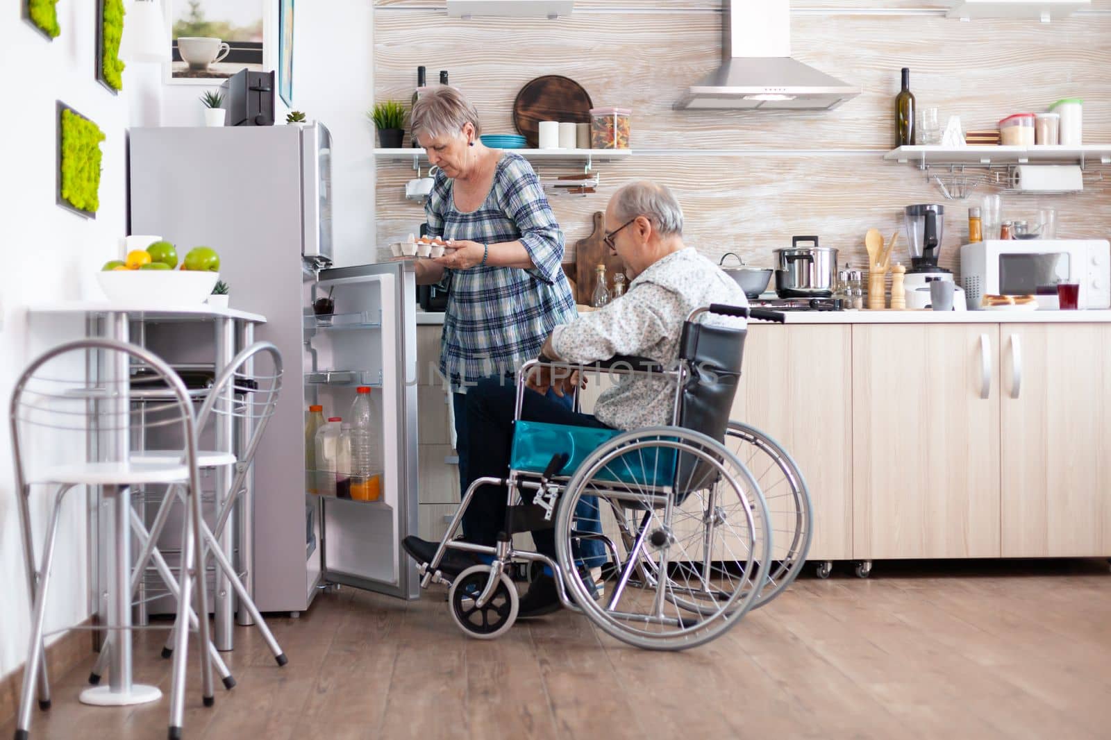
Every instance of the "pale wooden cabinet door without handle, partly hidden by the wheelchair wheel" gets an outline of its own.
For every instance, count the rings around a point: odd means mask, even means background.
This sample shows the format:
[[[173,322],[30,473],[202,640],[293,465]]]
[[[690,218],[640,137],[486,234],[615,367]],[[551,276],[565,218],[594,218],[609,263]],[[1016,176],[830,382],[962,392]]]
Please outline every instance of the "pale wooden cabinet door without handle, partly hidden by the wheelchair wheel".
[[[733,401],[731,418],[775,439],[807,480],[811,560],[852,557],[851,329],[749,324]]]

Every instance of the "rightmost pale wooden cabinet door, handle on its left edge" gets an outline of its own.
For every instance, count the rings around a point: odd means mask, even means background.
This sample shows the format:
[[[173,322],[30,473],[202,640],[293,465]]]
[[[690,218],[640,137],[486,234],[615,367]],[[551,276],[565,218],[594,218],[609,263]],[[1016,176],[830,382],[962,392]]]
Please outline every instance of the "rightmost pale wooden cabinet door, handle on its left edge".
[[[1002,554],[1111,554],[1111,326],[1001,324]]]

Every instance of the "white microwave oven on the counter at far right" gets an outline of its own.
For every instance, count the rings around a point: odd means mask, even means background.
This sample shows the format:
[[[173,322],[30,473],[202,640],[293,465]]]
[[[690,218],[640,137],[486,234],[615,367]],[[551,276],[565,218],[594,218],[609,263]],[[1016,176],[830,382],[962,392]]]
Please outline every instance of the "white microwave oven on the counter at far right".
[[[1003,239],[961,247],[961,282],[970,309],[980,298],[1034,296],[1055,309],[1057,283],[1080,284],[1079,307],[1111,308],[1111,244],[1107,239]]]

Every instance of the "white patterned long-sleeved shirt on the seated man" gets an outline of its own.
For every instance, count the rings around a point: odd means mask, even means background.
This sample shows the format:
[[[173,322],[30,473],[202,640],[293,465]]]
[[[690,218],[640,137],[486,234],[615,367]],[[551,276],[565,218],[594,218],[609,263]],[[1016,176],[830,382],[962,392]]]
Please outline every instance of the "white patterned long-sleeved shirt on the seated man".
[[[688,247],[649,266],[629,283],[621,298],[558,327],[552,348],[568,362],[597,362],[628,354],[674,369],[679,364],[683,322],[691,311],[710,303],[748,306],[749,301],[732,278]],[[718,326],[745,326],[743,319],[709,313],[700,319]],[[613,381],[594,406],[599,421],[622,430],[671,423],[673,378],[613,376]]]

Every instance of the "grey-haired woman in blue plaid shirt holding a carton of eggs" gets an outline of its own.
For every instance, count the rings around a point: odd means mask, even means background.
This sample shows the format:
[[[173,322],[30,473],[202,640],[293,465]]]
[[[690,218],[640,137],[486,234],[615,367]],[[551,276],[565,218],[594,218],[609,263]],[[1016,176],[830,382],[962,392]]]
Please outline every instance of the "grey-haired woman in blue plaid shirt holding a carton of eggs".
[[[560,263],[563,232],[536,172],[520,154],[489,149],[474,107],[454,88],[434,88],[413,104],[412,136],[439,171],[424,206],[428,234],[457,248],[417,262],[417,282],[447,283],[440,372],[450,383],[459,476],[466,460],[467,389],[483,378],[512,382],[559,324],[575,318],[574,298]],[[471,506],[463,534],[493,544],[500,524],[487,507]]]

